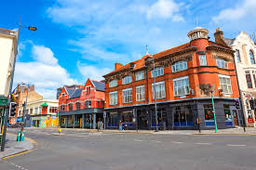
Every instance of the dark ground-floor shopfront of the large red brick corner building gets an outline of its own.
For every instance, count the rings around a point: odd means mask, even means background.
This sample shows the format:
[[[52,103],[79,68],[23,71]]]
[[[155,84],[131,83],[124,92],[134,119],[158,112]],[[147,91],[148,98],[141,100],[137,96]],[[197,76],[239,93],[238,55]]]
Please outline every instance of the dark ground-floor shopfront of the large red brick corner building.
[[[234,99],[214,98],[214,107],[218,128],[230,128],[242,122]],[[105,111],[107,128],[119,128],[121,121],[124,129],[155,129],[154,103]],[[210,98],[200,98],[157,103],[157,122],[162,130],[214,128],[212,102]]]

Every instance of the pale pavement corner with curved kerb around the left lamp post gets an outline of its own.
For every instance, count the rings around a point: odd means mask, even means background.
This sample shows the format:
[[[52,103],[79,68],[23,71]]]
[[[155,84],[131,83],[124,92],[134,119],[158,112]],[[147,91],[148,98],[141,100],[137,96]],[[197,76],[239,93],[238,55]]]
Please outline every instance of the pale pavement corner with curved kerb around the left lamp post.
[[[16,135],[7,133],[7,142],[5,151],[0,151],[0,159],[5,159],[9,156],[19,154],[24,151],[29,151],[34,148],[32,139],[25,137],[24,141],[16,141]]]

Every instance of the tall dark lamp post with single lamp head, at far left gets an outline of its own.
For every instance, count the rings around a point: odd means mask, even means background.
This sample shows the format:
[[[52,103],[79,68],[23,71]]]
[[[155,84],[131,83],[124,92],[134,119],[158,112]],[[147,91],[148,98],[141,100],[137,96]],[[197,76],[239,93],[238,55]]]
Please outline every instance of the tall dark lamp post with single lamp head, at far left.
[[[29,26],[29,27],[23,27],[21,26],[21,19],[20,19],[20,25],[19,25],[19,30],[18,32],[18,37],[17,37],[17,44],[16,44],[16,51],[14,55],[14,60],[13,60],[13,66],[12,66],[12,72],[11,72],[11,79],[10,79],[10,85],[9,85],[9,93],[7,97],[7,106],[10,105],[10,99],[11,99],[11,89],[13,85],[13,77],[14,77],[14,71],[15,71],[15,64],[16,64],[16,59],[18,55],[18,44],[19,44],[19,37],[20,37],[20,29],[21,28],[27,28],[30,31],[36,31],[37,29],[34,26]],[[1,142],[1,151],[5,151],[5,144],[6,144],[6,137],[7,137],[7,119],[8,119],[8,114],[9,114],[9,108],[6,108],[6,115],[5,115],[5,122],[4,122],[4,132],[2,136],[2,142]]]

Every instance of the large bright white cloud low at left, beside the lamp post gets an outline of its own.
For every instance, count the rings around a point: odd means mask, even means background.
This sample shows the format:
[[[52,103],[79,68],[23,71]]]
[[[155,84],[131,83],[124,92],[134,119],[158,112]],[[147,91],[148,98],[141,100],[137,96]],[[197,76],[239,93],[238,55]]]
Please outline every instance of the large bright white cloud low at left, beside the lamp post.
[[[46,46],[33,46],[34,61],[17,62],[15,83],[30,83],[44,98],[56,98],[56,89],[62,85],[74,85],[77,82],[58,64],[58,59]],[[46,59],[44,59],[44,57]]]

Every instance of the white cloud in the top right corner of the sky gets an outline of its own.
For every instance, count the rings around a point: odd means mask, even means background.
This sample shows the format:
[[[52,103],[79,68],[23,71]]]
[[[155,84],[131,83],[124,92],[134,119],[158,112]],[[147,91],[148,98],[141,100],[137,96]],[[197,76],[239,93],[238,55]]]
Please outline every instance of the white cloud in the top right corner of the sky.
[[[256,1],[255,0],[244,0],[243,3],[238,4],[233,8],[223,9],[219,15],[212,18],[215,22],[220,22],[224,20],[241,20],[243,18],[249,17],[255,20],[256,13]]]

